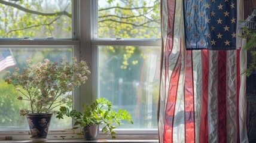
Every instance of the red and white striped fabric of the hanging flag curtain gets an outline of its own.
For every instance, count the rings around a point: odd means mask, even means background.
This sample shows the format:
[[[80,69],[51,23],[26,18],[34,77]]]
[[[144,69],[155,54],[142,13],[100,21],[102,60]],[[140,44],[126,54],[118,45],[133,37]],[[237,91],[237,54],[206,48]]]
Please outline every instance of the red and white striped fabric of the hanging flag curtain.
[[[231,50],[186,49],[184,2],[189,0],[161,0],[159,142],[248,142],[243,41],[236,38]],[[242,20],[243,2],[234,3]]]

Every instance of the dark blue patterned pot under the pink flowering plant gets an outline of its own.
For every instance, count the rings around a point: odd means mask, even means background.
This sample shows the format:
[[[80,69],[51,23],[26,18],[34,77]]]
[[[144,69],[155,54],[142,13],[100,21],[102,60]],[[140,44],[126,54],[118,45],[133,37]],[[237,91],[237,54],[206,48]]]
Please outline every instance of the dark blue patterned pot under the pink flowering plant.
[[[47,138],[51,116],[53,114],[27,114],[31,138]]]

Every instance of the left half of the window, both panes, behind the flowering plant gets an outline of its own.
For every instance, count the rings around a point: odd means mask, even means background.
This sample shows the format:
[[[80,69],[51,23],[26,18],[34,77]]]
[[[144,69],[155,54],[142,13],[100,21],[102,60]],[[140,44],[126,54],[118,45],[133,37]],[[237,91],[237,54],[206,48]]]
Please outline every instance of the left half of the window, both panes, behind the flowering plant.
[[[0,2],[0,129],[28,129],[25,117],[19,110],[28,104],[17,100],[18,92],[4,82],[5,71],[44,58],[57,61],[79,55],[79,42],[74,41],[71,0],[57,1],[1,1]],[[73,39],[73,41],[71,41]],[[10,55],[13,63],[4,66],[2,55]],[[3,60],[3,61],[2,61]],[[79,96],[79,94],[74,94]],[[72,128],[72,120],[53,117],[51,129]]]

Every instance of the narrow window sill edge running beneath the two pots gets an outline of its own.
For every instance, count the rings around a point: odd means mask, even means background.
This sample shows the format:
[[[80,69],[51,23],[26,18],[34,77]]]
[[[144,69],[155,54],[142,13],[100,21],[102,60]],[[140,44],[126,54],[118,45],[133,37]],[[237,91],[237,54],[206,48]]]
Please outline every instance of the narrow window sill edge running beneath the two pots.
[[[5,140],[5,141],[0,141],[0,142],[33,142],[31,140]],[[84,139],[48,139],[45,142],[72,142],[72,143],[76,143],[76,142],[140,142],[140,143],[155,143],[155,142],[159,142],[158,139],[97,139],[94,141],[87,141]]]

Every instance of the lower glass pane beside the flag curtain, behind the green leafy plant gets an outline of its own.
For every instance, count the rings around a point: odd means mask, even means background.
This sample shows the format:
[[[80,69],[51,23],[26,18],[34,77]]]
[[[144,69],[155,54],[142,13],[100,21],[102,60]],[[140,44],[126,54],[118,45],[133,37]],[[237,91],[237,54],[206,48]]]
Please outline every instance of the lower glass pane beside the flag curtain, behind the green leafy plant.
[[[160,47],[99,46],[99,97],[132,114],[121,128],[157,128]],[[123,122],[124,123],[124,122]]]

